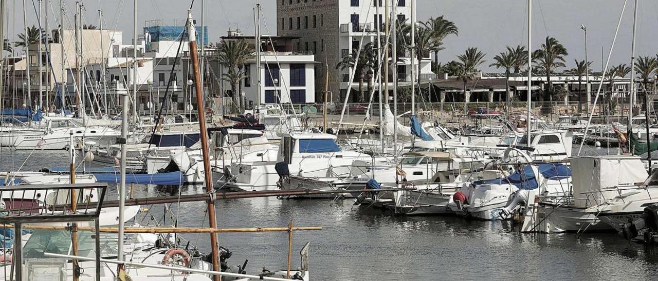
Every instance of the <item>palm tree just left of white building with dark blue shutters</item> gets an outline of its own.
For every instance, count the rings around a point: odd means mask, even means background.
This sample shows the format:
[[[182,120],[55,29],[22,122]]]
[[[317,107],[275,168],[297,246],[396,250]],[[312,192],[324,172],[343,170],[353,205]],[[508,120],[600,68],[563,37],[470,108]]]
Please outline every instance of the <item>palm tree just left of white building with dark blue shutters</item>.
[[[223,79],[231,83],[231,93],[233,102],[240,106],[240,82],[245,79],[242,67],[247,60],[253,58],[254,50],[249,47],[249,42],[244,39],[236,41],[222,41],[219,50],[219,63],[226,66],[228,71],[224,74]]]

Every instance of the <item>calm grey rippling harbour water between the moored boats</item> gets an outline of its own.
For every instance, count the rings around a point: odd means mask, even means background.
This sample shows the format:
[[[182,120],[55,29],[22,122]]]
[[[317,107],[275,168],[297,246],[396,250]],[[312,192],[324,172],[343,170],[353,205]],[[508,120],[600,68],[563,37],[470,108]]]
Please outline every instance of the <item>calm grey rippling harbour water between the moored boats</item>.
[[[586,149],[587,154],[607,152]],[[3,148],[0,171],[17,169],[29,154]],[[63,150],[35,151],[22,169],[62,166],[67,158]],[[204,192],[203,186],[137,188],[136,197]],[[110,196],[116,198],[116,186],[111,186]],[[299,266],[299,249],[311,242],[313,280],[655,280],[658,276],[658,248],[630,244],[615,233],[522,234],[509,222],[393,216],[353,207],[351,200],[256,198],[219,201],[216,206],[219,226],[225,228],[285,227],[290,219],[296,226],[323,227],[295,232],[293,238],[293,267]],[[180,226],[207,225],[201,202],[172,204],[170,211]],[[163,205],[150,207],[149,213],[171,223],[172,215],[163,215]],[[184,237],[209,251],[207,234]],[[248,273],[258,273],[263,266],[270,270],[286,266],[286,232],[220,234],[219,240],[234,253],[230,263],[249,259]]]

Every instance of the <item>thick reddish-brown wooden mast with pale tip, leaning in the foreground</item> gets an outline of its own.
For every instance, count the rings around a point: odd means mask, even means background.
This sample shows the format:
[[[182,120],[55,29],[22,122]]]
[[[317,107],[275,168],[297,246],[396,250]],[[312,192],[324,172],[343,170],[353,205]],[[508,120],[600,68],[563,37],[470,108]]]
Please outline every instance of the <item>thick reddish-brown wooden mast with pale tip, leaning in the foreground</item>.
[[[197,54],[197,39],[196,39],[196,30],[194,28],[194,22],[192,20],[192,11],[188,10],[188,37],[190,37],[190,58],[192,62],[192,68],[194,72],[194,89],[197,96],[197,110],[199,112],[199,130],[201,137],[201,152],[203,154],[203,168],[205,174],[205,186],[207,192],[215,193],[213,188],[213,177],[211,175],[210,167],[210,155],[208,153],[208,136],[205,123],[205,112],[203,112],[203,93],[201,92],[201,74],[199,74],[199,58]],[[213,200],[208,200],[208,219],[209,225],[211,228],[217,227],[217,220],[215,216],[215,202]],[[210,236],[210,248],[213,251],[213,270],[220,270],[219,268],[219,257],[218,257],[218,244],[217,244],[217,234],[211,233]],[[220,278],[218,275],[215,275],[215,281],[219,281]]]

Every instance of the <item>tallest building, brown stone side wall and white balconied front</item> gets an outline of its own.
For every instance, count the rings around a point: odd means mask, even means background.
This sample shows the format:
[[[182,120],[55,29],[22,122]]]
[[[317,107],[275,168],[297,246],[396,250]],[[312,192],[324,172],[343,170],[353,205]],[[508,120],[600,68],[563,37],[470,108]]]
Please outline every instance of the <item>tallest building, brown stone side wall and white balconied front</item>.
[[[386,21],[385,3],[389,1],[390,11],[396,5],[397,20],[411,22],[411,9],[409,0],[278,0],[276,2],[277,33],[284,36],[299,37],[296,50],[311,51],[320,61],[316,77],[316,97],[322,97],[328,64],[329,91],[331,100],[342,100],[349,87],[349,69],[337,69],[343,57],[348,56],[359,46],[369,42],[376,43],[377,26],[380,26],[380,36],[384,36],[384,22]],[[394,2],[394,3],[393,3]],[[409,43],[407,43],[409,44]],[[397,63],[397,81],[408,83],[411,81],[410,52]],[[420,63],[415,60],[417,76],[432,74],[431,59],[423,59]],[[383,73],[383,71],[382,71]],[[392,71],[390,72],[390,75]],[[358,87],[360,77],[354,77]],[[389,79],[393,82],[393,77]],[[374,85],[374,83],[372,83]],[[352,92],[353,93],[353,92]],[[355,95],[351,95],[355,97]]]

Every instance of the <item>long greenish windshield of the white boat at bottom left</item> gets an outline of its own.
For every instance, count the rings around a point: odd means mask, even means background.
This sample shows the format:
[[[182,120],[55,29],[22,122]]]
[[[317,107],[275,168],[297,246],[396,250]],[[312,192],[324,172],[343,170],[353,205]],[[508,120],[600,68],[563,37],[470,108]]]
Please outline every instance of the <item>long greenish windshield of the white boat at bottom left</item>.
[[[101,257],[116,257],[116,234],[101,233]],[[93,232],[78,232],[78,255],[94,257],[95,239]],[[71,235],[66,230],[34,230],[28,242],[23,247],[27,259],[43,259],[43,253],[59,253],[71,255]]]

